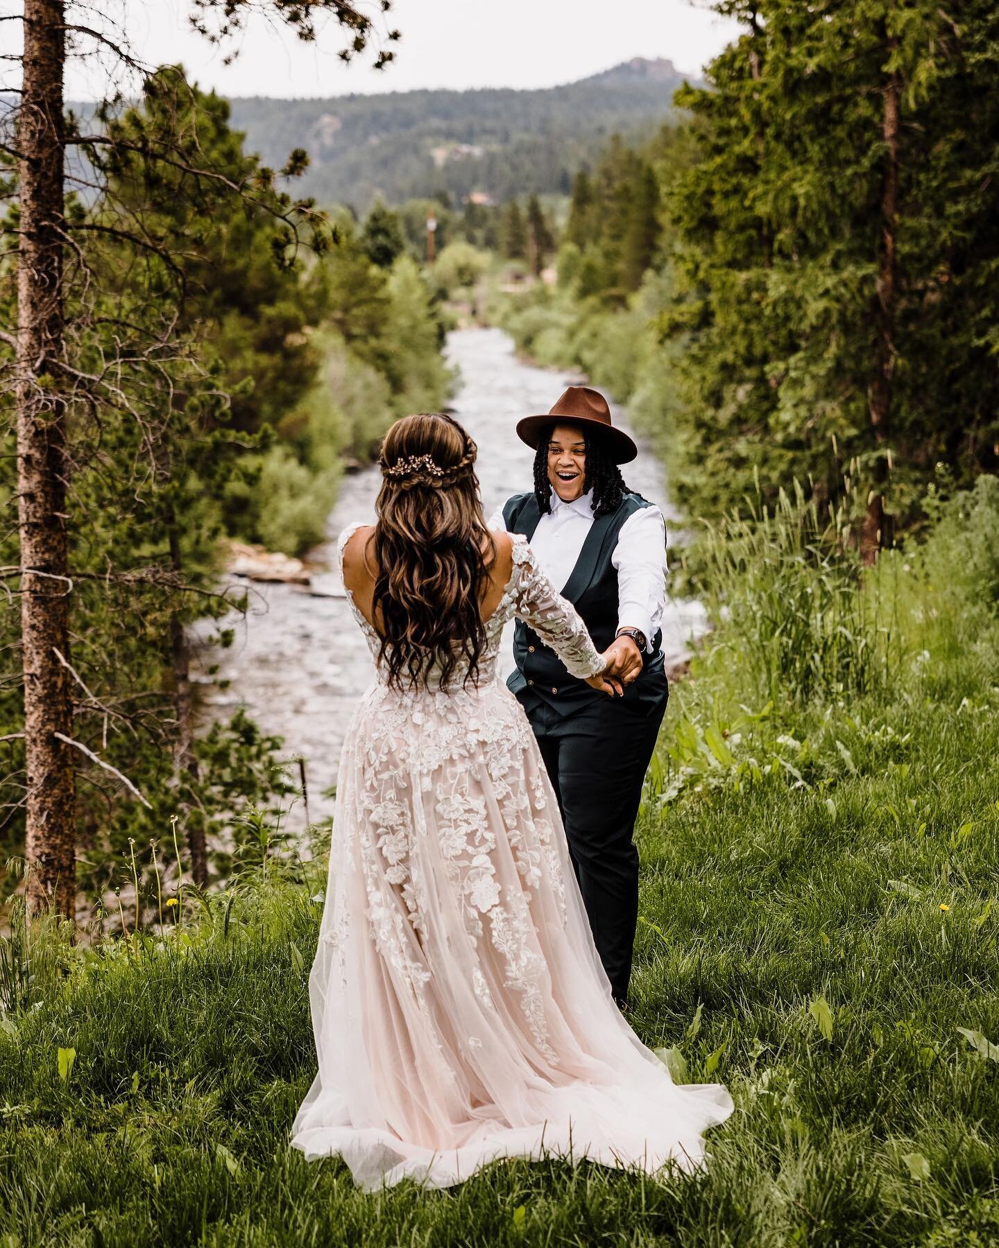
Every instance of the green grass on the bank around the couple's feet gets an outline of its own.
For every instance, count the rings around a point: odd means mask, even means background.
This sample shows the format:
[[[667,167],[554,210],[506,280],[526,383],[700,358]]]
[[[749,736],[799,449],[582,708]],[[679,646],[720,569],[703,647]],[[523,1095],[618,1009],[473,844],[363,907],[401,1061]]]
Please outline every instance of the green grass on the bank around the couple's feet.
[[[306,1163],[320,885],[272,867],[165,940],[35,932],[26,990],[0,965],[0,1246],[999,1242],[999,487],[863,580],[785,519],[729,565],[639,820],[633,1023],[737,1101],[704,1174]]]

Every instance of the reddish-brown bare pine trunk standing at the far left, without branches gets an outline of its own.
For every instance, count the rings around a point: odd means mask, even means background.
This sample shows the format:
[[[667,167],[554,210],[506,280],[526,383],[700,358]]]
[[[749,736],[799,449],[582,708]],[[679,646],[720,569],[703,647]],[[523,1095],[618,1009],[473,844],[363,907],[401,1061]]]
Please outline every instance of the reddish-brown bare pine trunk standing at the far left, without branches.
[[[27,905],[71,916],[76,894],[64,352],[62,0],[25,0],[17,122],[17,504],[21,548]]]

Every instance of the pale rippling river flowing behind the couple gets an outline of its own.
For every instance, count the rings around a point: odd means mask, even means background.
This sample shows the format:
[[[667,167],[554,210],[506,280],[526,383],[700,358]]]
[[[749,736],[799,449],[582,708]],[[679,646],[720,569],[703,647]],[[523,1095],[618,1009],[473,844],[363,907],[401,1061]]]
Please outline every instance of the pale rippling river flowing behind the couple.
[[[447,358],[461,374],[453,412],[478,444],[477,469],[488,518],[511,494],[531,487],[533,452],[517,438],[517,419],[547,412],[569,382],[562,373],[518,361],[512,341],[496,328],[453,331]],[[621,409],[614,409],[613,418],[628,428]],[[672,515],[662,467],[641,438],[636,442],[639,454],[627,466],[624,479]],[[263,731],[283,738],[282,758],[305,759],[313,821],[332,812],[332,797],[323,796],[323,790],[336,784],[347,721],[372,679],[367,644],[340,585],[336,538],[352,520],[373,520],[380,482],[376,467],[346,477],[330,515],[327,540],[310,552],[312,585],[250,584],[246,615],[234,614],[215,625],[234,628],[234,644],[226,650],[202,649],[199,659],[202,711],[209,719],[225,719],[242,704]],[[668,600],[663,620],[667,666],[686,656],[689,638],[704,628],[701,604]],[[209,631],[197,628],[195,636]],[[503,653],[508,671],[509,638]],[[219,665],[214,679],[206,675],[209,664]],[[227,688],[217,688],[220,678]],[[297,769],[293,776],[297,782]],[[300,805],[287,826],[303,826]]]

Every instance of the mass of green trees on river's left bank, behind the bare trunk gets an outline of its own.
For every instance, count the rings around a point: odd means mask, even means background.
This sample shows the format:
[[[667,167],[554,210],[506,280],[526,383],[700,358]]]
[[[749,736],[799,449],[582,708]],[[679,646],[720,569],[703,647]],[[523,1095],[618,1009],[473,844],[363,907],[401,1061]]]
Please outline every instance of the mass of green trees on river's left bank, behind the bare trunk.
[[[95,125],[106,142],[91,145],[90,170],[106,193],[69,205],[92,242],[70,285],[67,343],[74,367],[104,387],[96,402],[80,393],[70,423],[74,734],[147,804],[74,758],[79,882],[87,906],[107,906],[130,841],[141,866],[176,816],[181,842],[207,840],[206,865],[225,871],[242,812],[288,790],[280,741],[245,715],[191,733],[186,630],[200,619],[207,640],[212,620],[244,605],[217,590],[225,539],[290,553],[321,540],[345,464],[368,459],[397,414],[440,407],[452,379],[401,231],[385,215],[363,235],[345,218],[306,258],[307,205],[273,191],[226,101],[166,67],[140,101],[99,109]],[[7,238],[16,222],[15,210]],[[376,241],[397,247],[383,267],[368,252]],[[5,324],[17,318],[14,276],[7,253]],[[0,457],[0,503],[14,499],[15,464]],[[14,532],[0,534],[0,564],[19,564]],[[24,845],[16,617],[0,617],[6,855]],[[226,645],[232,634],[216,636]]]

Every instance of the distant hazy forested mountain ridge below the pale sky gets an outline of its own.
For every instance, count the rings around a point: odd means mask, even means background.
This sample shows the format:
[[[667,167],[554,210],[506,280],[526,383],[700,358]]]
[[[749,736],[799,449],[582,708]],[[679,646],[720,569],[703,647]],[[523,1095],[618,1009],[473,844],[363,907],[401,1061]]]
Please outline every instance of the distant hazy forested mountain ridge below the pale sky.
[[[497,201],[569,190],[574,171],[613,134],[642,137],[669,115],[683,76],[636,59],[543,91],[405,91],[328,100],[236,99],[246,150],[280,168],[293,147],[310,167],[296,193],[363,211],[447,191]]]

